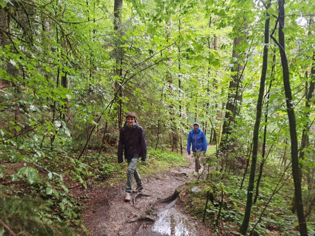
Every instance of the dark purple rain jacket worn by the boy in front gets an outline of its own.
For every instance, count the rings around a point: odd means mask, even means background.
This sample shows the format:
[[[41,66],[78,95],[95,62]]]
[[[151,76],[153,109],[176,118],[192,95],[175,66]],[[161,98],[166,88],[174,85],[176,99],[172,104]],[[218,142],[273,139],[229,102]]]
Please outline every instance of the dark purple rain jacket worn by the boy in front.
[[[131,128],[127,121],[120,129],[119,143],[118,143],[118,163],[123,162],[123,150],[125,158],[131,160],[132,158],[140,158],[142,161],[146,160],[146,136],[144,130],[135,121],[135,125]]]

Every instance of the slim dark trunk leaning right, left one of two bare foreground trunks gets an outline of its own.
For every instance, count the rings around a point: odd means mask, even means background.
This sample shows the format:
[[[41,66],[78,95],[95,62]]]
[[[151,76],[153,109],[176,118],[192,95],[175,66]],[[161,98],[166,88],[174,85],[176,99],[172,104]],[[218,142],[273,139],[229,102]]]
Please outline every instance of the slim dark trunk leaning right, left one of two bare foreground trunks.
[[[270,7],[270,3],[267,5],[267,9]],[[268,16],[269,14],[266,13]],[[256,161],[257,161],[257,153],[258,153],[258,139],[259,139],[259,126],[261,120],[261,110],[262,110],[262,102],[265,90],[265,81],[266,81],[266,73],[267,73],[267,65],[268,65],[268,43],[269,43],[269,22],[270,18],[265,21],[265,46],[263,53],[263,62],[262,62],[262,70],[261,70],[261,79],[260,79],[260,87],[259,87],[259,95],[256,106],[256,120],[254,126],[253,133],[253,155],[252,155],[252,163],[250,166],[250,174],[249,174],[249,183],[247,188],[247,201],[245,208],[245,215],[243,219],[243,223],[241,225],[240,231],[242,234],[246,234],[247,228],[250,220],[250,212],[253,204],[253,190],[255,183],[255,171],[256,171]]]

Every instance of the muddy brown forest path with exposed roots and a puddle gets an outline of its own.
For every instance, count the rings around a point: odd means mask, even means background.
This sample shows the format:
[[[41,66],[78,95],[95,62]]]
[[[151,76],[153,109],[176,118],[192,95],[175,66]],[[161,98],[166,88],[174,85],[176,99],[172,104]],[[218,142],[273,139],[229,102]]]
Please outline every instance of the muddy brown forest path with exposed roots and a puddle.
[[[154,177],[142,178],[143,194],[151,196],[138,197],[136,206],[133,199],[136,193],[131,194],[131,201],[125,202],[125,183],[119,183],[108,188],[90,190],[89,201],[84,204],[84,225],[92,235],[102,236],[157,236],[157,235],[209,235],[209,228],[186,215],[185,209],[176,204],[169,210],[161,211],[156,216],[157,221],[135,221],[133,219],[145,215],[145,211],[153,202],[172,195],[176,188],[192,180],[194,160],[185,151],[190,167],[172,167],[167,172],[157,173]],[[188,177],[176,176],[176,173],[186,173]],[[135,186],[134,186],[135,187]]]

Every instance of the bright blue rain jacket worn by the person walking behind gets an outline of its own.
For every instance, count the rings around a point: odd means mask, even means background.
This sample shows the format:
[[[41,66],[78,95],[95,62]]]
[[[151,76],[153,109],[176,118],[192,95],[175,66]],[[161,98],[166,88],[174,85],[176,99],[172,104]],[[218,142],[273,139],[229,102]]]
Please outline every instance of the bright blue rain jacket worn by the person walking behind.
[[[207,151],[207,138],[204,132],[198,128],[198,130],[192,129],[188,134],[187,140],[187,152],[190,155],[190,146],[192,146],[192,151],[202,150]]]

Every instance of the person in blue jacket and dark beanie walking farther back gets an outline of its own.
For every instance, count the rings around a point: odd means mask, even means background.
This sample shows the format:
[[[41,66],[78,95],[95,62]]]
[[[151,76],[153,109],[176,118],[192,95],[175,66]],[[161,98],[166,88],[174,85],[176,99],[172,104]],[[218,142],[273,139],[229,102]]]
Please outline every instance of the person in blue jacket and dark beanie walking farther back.
[[[195,175],[198,175],[201,168],[199,158],[201,153],[205,154],[207,151],[207,138],[204,132],[199,128],[199,123],[193,124],[194,128],[188,134],[187,140],[187,152],[190,155],[190,146],[192,146],[192,152],[195,159]]]

